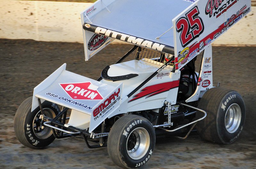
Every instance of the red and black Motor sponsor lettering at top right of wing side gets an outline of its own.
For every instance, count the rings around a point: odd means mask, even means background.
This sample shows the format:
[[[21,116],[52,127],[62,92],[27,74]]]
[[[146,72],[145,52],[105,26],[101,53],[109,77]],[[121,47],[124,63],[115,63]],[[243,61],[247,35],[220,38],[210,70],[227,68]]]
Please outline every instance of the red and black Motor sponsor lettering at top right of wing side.
[[[211,18],[212,15],[218,18],[237,2],[237,0],[227,0],[225,1],[226,3],[222,3],[223,1],[224,0],[208,0],[205,7],[205,14],[209,15],[209,18]]]

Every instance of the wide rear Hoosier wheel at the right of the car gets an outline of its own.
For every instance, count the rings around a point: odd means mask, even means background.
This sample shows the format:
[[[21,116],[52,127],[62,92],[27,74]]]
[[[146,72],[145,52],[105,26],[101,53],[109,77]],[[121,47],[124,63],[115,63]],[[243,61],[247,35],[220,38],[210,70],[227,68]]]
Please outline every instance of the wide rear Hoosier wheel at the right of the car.
[[[245,121],[245,104],[241,95],[228,89],[211,88],[201,98],[198,108],[207,113],[196,126],[203,139],[219,144],[236,141]],[[197,119],[202,116],[201,112],[196,112]]]

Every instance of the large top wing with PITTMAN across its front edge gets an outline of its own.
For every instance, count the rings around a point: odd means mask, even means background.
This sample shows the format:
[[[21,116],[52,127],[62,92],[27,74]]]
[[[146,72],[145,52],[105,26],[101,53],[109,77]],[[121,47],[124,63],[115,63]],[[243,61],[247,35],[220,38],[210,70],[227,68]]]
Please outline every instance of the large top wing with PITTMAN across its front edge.
[[[173,54],[180,69],[250,11],[250,0],[98,0],[81,14],[85,60],[118,39]]]

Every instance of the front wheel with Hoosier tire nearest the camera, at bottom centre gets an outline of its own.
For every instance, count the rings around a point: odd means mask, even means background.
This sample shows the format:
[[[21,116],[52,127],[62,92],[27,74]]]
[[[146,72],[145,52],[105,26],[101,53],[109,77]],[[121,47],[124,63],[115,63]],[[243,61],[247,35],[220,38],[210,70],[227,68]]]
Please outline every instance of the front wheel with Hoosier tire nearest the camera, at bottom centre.
[[[155,142],[155,130],[146,118],[125,115],[114,123],[109,132],[108,154],[120,167],[137,168],[149,160]]]

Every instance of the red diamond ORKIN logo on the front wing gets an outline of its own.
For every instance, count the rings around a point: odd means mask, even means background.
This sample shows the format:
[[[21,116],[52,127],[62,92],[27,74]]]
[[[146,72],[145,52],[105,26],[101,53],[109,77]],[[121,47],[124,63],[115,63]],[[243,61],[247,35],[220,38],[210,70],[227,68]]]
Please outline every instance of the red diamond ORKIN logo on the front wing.
[[[60,83],[60,86],[72,98],[78,100],[102,100],[103,97],[98,92],[98,86],[90,81],[80,83]]]

